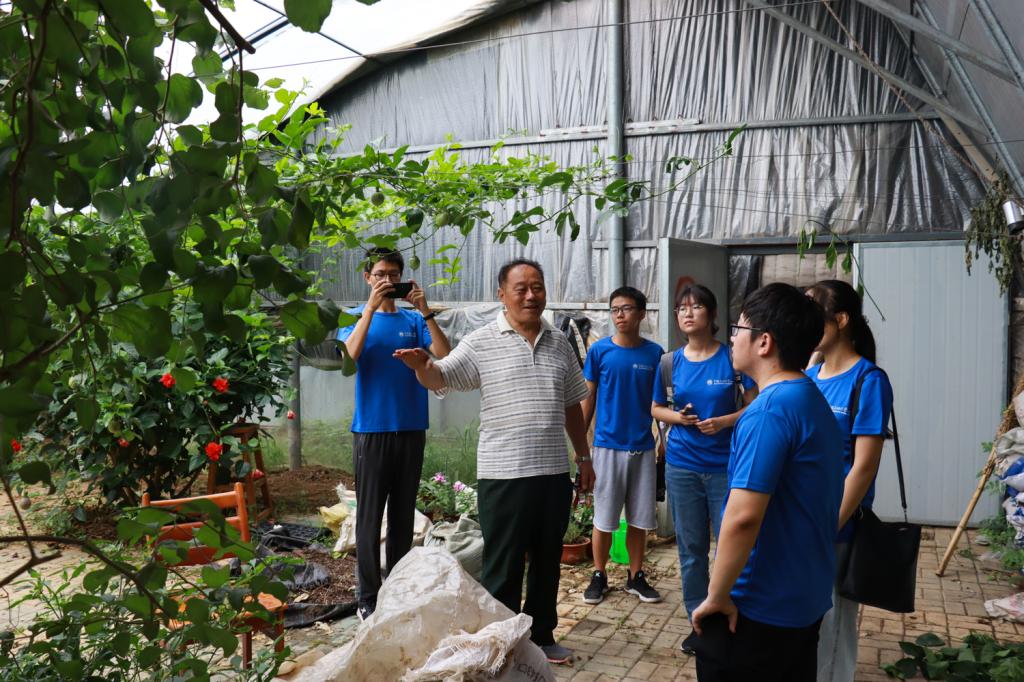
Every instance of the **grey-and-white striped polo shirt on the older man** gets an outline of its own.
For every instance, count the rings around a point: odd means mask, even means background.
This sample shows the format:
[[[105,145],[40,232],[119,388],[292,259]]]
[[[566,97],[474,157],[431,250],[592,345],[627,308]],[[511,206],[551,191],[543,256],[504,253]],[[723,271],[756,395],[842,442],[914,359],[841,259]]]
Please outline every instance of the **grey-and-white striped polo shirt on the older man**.
[[[498,318],[435,360],[452,389],[480,389],[478,478],[566,473],[565,409],[589,391],[568,341],[547,321],[531,347]]]

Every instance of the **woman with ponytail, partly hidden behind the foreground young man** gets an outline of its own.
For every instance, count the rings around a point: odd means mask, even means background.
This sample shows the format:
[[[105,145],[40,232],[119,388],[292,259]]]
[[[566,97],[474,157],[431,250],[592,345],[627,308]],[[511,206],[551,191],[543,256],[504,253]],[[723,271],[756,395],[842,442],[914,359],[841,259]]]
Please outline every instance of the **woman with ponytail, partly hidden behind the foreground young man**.
[[[824,280],[807,295],[825,311],[824,334],[816,349],[822,361],[808,369],[807,375],[828,400],[844,434],[845,482],[836,541],[837,566],[842,566],[849,554],[857,510],[870,508],[874,499],[874,476],[893,390],[889,378],[876,368],[874,336],[856,290],[839,280]],[[818,682],[853,682],[859,606],[833,591],[833,608],[821,622],[818,640]]]

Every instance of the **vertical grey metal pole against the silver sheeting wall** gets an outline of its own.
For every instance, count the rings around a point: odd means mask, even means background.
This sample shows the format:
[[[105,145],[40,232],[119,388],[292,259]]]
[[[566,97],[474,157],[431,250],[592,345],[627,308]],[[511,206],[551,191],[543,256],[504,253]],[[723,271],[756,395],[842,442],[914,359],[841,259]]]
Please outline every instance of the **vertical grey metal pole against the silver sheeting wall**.
[[[623,108],[625,70],[623,68],[623,34],[625,0],[608,0],[608,155],[626,156],[626,126]],[[626,164],[616,162],[612,181],[626,177]],[[608,293],[625,284],[626,218],[613,214],[608,222]]]

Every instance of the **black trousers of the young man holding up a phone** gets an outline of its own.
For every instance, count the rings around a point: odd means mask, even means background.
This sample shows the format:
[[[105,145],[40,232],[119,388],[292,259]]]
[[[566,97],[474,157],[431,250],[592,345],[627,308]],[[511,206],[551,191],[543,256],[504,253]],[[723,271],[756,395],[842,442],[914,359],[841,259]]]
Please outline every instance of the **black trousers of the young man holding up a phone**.
[[[381,589],[381,522],[387,504],[388,570],[413,546],[416,492],[423,472],[426,431],[353,433],[355,559],[359,603],[377,604]]]

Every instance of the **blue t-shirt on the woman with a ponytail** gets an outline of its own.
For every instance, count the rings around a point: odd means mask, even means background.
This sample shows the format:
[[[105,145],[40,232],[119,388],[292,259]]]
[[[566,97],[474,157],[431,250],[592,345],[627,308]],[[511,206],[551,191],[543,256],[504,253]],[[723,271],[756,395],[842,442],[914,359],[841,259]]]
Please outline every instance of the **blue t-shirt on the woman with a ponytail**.
[[[881,372],[871,371],[874,364],[866,357],[861,357],[857,363],[843,374],[838,374],[828,379],[820,379],[818,373],[821,371],[820,365],[815,365],[807,371],[807,376],[821,391],[831,408],[836,420],[839,422],[843,432],[843,476],[850,473],[853,468],[853,440],[858,435],[885,435],[889,426],[889,416],[893,409],[893,387],[889,383],[889,378]],[[857,415],[854,424],[850,424],[850,398],[853,397],[853,388],[860,377],[864,376],[864,383],[860,386],[860,400],[857,408]],[[864,500],[860,503],[862,507],[871,508],[874,502],[874,481],[867,488]],[[850,519],[839,534],[839,542],[850,542],[853,538],[855,521]]]

